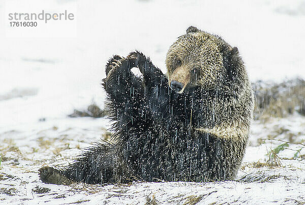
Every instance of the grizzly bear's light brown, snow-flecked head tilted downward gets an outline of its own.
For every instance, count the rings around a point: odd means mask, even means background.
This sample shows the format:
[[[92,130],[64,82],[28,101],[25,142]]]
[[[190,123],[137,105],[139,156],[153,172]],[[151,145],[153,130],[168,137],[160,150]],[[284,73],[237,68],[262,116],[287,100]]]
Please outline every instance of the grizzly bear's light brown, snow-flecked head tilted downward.
[[[198,30],[194,26],[187,34],[178,37],[169,48],[166,67],[169,86],[176,93],[182,93],[191,86],[213,89],[225,74],[224,41]],[[226,50],[232,50],[228,44]]]

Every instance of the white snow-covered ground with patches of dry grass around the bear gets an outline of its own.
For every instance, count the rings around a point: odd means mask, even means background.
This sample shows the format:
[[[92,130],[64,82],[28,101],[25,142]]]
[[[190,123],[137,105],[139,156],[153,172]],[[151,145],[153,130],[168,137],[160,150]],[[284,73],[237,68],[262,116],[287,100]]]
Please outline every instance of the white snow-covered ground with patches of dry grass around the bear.
[[[11,28],[7,14],[27,8],[73,11],[73,34],[65,27],[45,33],[44,25],[31,37]],[[111,55],[138,49],[165,72],[168,47],[195,25],[237,46],[252,81],[305,79],[304,22],[302,0],[0,1],[0,203],[305,203],[305,117],[297,113],[253,123],[239,181],[57,186],[38,177],[41,166],[67,163],[108,134],[104,118],[67,115],[104,106],[100,83]],[[270,166],[279,140],[293,143]]]

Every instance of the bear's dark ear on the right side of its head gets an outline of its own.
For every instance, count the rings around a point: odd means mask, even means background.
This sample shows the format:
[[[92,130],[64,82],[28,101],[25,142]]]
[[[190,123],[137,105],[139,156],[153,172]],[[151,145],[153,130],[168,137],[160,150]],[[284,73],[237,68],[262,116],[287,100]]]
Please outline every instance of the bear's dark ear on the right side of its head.
[[[227,75],[230,80],[234,80],[236,76],[236,68],[240,64],[239,52],[237,47],[228,49],[223,56],[223,64],[227,70]]]

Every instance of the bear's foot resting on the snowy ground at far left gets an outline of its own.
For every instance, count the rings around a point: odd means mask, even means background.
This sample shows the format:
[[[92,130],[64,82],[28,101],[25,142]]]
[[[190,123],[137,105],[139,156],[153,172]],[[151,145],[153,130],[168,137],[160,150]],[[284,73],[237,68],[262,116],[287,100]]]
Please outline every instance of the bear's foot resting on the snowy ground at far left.
[[[39,176],[41,181],[47,184],[70,185],[73,183],[72,180],[60,174],[57,169],[48,166],[39,169]]]

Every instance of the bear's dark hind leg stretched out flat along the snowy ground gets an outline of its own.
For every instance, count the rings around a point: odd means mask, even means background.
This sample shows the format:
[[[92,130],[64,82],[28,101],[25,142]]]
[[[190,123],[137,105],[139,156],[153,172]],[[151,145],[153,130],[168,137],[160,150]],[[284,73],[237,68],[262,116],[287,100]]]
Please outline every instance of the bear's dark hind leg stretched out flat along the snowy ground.
[[[42,167],[40,179],[44,183],[70,185],[73,182],[105,184],[113,182],[113,156],[111,145],[97,143],[79,158],[63,168]]]

